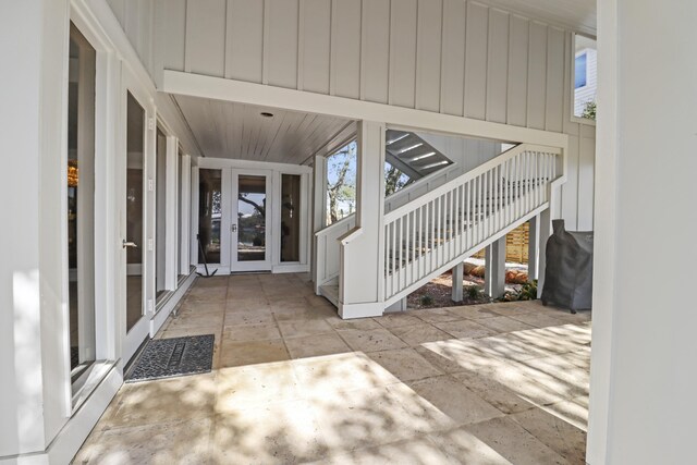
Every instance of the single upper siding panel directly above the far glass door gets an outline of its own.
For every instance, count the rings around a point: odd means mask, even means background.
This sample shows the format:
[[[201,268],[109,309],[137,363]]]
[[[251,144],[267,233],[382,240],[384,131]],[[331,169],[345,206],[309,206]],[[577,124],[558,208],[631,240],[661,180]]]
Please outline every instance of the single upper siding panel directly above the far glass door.
[[[228,0],[225,77],[260,83],[262,57],[264,2]]]

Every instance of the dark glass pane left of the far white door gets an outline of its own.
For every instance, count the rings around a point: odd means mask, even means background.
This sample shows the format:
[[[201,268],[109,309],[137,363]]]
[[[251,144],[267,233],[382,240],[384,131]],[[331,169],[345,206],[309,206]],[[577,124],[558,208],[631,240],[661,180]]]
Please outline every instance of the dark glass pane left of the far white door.
[[[222,170],[201,168],[198,180],[198,262],[220,264]]]

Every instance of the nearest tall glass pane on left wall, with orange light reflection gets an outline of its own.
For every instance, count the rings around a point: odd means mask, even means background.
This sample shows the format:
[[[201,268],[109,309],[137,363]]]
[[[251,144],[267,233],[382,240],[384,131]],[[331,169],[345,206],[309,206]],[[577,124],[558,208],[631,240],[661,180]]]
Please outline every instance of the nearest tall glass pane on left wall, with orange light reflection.
[[[68,87],[68,276],[70,368],[96,358],[95,49],[71,26]]]

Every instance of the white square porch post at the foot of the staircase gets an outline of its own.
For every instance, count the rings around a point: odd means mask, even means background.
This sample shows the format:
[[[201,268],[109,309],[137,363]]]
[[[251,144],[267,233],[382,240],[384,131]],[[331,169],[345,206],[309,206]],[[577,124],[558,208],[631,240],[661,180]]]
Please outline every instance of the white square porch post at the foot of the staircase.
[[[382,315],[384,124],[358,123],[356,227],[341,241],[339,315],[360,318]]]

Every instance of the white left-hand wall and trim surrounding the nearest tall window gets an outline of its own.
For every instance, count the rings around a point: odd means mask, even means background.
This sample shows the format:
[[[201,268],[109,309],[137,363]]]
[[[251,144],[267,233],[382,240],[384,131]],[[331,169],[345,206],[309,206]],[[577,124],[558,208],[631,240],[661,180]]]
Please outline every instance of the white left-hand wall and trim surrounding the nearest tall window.
[[[66,162],[70,21],[97,49],[95,241],[96,313],[108,359],[103,378],[78,407],[72,403],[66,344]],[[114,25],[115,28],[114,28]],[[8,174],[0,184],[0,463],[69,463],[121,384],[117,316],[121,218],[114,171],[123,135],[123,71],[147,89],[184,150],[198,156],[169,98],[149,81],[106,0],[5,2],[0,53],[12,70],[0,89]],[[22,44],[22,47],[16,47]],[[120,197],[122,198],[122,197]],[[102,247],[102,248],[99,248]],[[174,299],[172,299],[174,301]],[[149,316],[148,316],[149,317]],[[100,352],[101,351],[101,352]],[[113,362],[113,363],[111,363]]]

